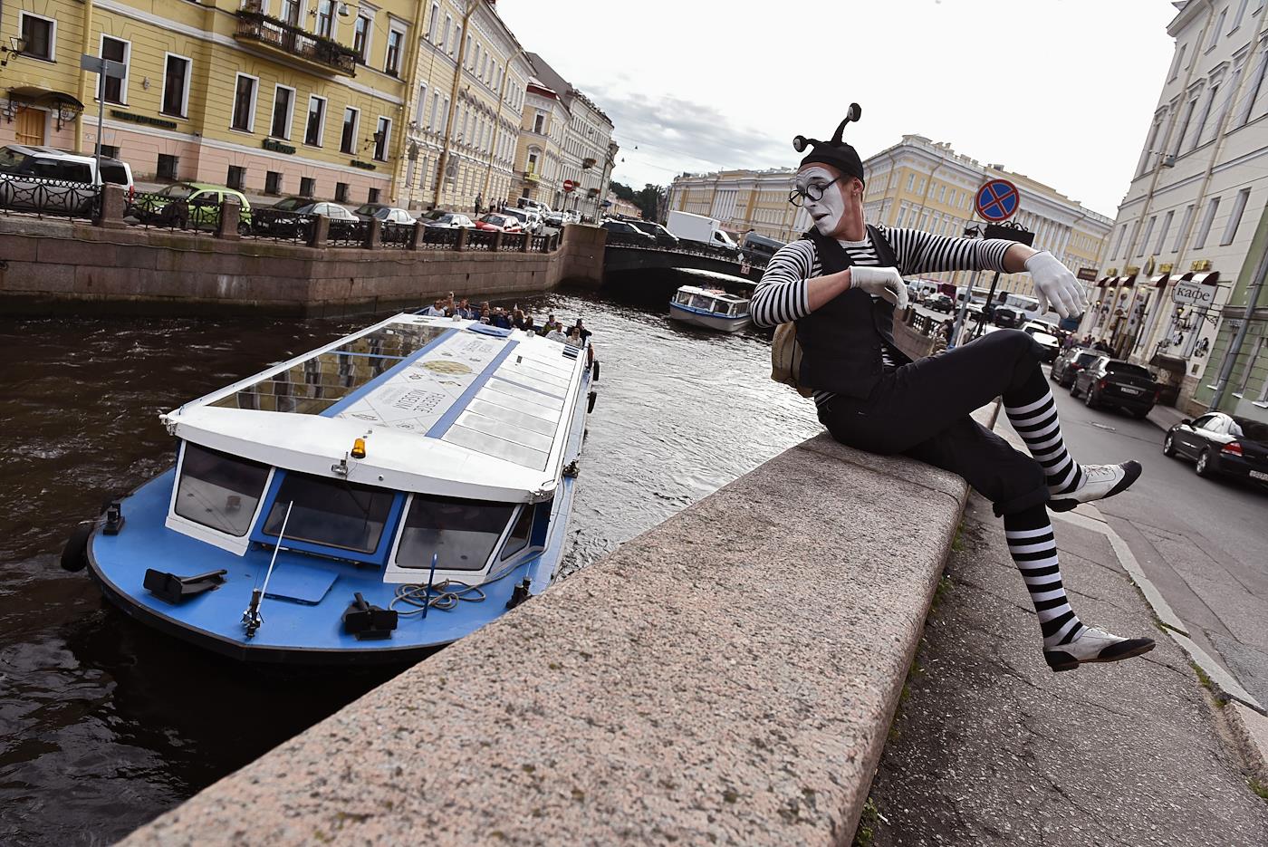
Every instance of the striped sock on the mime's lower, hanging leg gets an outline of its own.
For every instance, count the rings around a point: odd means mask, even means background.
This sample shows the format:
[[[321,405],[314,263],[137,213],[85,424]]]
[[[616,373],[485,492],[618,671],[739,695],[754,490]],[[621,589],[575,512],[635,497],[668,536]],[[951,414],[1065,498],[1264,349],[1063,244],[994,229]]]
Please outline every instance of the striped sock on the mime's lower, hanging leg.
[[[1038,615],[1040,630],[1044,633],[1044,647],[1054,648],[1068,643],[1079,634],[1083,623],[1070,609],[1061,585],[1056,539],[1052,536],[1046,508],[1035,506],[1017,515],[1004,515],[1004,535],[1008,539],[1008,553],[1022,572],[1026,590],[1035,604],[1035,614]]]

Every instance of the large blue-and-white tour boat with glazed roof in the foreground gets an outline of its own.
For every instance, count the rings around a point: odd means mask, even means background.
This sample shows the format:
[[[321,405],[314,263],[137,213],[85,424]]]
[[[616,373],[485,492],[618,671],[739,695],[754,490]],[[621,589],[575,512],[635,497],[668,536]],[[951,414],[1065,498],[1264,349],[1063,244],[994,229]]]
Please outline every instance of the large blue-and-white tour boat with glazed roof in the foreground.
[[[237,659],[418,658],[554,579],[591,355],[397,314],[161,415],[175,467],[72,535],[62,564]]]

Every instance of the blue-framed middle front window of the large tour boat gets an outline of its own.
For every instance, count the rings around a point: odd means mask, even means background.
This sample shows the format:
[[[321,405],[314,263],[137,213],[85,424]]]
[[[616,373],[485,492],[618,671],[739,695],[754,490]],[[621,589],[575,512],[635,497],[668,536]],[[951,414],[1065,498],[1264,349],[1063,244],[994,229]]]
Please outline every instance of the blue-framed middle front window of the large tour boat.
[[[346,479],[288,473],[264,521],[265,535],[278,535],[287,521],[287,538],[344,550],[373,553],[396,495]]]

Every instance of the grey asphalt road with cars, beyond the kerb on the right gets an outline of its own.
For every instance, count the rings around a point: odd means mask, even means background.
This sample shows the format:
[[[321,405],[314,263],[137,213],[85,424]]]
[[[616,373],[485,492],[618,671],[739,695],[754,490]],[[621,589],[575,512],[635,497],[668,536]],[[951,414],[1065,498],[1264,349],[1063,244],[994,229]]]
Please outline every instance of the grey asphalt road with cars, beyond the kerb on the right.
[[[1141,463],[1140,479],[1097,508],[1193,640],[1268,704],[1268,489],[1203,479],[1192,462],[1163,455],[1150,421],[1089,410],[1055,383],[1052,393],[1080,463]]]

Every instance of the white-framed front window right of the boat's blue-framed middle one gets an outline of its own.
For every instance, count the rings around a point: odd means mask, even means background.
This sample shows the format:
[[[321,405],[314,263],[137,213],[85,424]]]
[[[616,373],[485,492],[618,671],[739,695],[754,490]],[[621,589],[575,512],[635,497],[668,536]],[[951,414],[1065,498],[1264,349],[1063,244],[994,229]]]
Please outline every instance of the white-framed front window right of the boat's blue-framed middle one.
[[[401,533],[396,563],[439,571],[479,571],[511,520],[515,503],[415,495]]]

